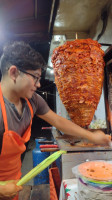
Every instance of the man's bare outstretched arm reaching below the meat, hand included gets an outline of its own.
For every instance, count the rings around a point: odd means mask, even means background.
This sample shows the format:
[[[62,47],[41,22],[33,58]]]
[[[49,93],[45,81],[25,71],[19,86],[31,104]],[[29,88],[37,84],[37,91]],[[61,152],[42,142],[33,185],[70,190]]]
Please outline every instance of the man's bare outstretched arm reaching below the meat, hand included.
[[[109,144],[110,138],[105,135],[102,131],[97,130],[94,132],[88,131],[87,129],[81,128],[77,124],[67,120],[52,110],[49,110],[44,115],[38,115],[41,119],[47,121],[52,126],[56,127],[58,130],[64,132],[67,135],[75,136],[78,138],[87,139],[95,144]]]

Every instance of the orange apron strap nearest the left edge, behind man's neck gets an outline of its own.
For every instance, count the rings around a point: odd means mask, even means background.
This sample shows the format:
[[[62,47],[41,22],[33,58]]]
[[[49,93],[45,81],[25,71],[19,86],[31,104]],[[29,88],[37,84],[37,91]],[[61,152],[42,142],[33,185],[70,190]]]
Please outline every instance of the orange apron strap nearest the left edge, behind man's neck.
[[[2,95],[1,85],[0,85],[0,104],[1,104],[1,111],[3,115],[4,128],[5,128],[5,131],[8,131],[7,114],[6,114],[5,103],[4,103],[4,99]]]

